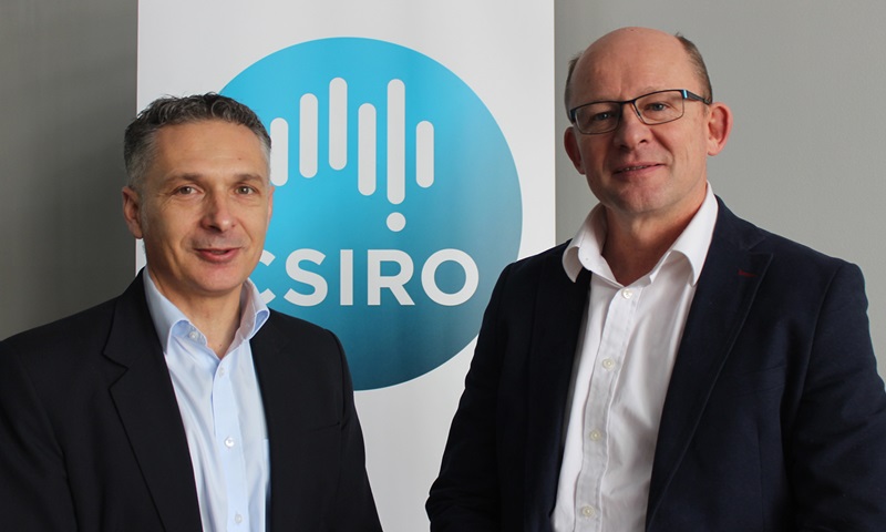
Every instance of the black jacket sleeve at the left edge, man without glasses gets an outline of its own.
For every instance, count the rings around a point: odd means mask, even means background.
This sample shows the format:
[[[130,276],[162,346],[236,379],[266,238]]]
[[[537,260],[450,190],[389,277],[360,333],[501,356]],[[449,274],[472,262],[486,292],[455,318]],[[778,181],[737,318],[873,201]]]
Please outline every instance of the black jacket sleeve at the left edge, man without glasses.
[[[4,530],[76,530],[64,456],[21,354],[0,342],[0,515]]]

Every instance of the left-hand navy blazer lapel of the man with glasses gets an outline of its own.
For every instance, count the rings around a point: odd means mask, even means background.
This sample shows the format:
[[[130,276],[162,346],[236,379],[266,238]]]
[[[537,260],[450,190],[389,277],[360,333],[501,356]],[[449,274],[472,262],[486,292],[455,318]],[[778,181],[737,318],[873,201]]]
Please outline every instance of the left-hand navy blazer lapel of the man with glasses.
[[[552,254],[538,284],[528,365],[526,530],[549,530],[563,459],[564,419],[590,273],[575,283]]]

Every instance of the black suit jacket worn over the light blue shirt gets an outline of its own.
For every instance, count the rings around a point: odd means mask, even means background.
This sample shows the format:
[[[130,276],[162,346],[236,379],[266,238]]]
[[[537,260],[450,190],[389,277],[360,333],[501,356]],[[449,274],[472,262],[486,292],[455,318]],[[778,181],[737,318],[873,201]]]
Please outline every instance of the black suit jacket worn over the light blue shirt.
[[[268,530],[381,530],[338,339],[271,311],[251,348],[270,448]],[[0,523],[202,530],[141,275],[116,299],[0,342]]]

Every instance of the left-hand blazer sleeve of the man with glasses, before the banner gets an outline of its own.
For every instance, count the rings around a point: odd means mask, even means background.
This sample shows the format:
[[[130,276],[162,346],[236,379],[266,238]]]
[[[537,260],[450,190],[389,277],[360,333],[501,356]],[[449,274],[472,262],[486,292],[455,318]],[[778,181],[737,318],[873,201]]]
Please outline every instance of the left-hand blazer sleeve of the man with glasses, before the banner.
[[[496,405],[505,350],[501,307],[511,268],[499,276],[483,316],[440,475],[425,504],[432,532],[486,532],[502,526]]]

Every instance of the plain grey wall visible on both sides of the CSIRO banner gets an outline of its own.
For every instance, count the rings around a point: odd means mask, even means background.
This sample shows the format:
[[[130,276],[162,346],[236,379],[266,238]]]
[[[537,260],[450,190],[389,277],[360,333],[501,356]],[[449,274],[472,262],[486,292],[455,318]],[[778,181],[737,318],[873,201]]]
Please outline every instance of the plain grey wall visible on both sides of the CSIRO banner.
[[[886,367],[886,2],[556,0],[556,88],[588,42],[621,25],[681,31],[735,113],[714,191],[758,225],[865,272]],[[117,294],[132,278],[120,215],[121,135],[135,110],[136,3],[0,3],[0,338]],[[557,144],[566,119],[560,101]],[[557,237],[593,206],[559,152]]]

